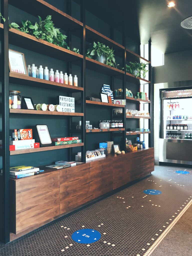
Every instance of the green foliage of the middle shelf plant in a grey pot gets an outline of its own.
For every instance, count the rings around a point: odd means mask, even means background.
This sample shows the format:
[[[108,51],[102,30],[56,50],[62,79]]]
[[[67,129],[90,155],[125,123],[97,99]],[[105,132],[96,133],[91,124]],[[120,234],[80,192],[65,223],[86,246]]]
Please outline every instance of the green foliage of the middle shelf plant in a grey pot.
[[[89,49],[87,49],[86,57],[92,59],[93,56],[99,56],[101,57],[102,55],[105,56],[106,59],[106,65],[109,65],[111,67],[117,67],[115,62],[115,56],[114,56],[114,50],[113,47],[110,49],[109,46],[105,46],[104,44],[97,42],[93,43],[93,46]]]

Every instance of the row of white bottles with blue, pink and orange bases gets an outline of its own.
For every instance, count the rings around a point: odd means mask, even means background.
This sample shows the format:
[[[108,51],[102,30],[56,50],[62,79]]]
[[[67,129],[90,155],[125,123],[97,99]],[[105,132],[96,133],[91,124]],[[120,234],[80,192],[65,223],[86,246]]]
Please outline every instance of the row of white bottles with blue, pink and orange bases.
[[[43,70],[42,66],[39,66],[39,69],[35,67],[35,64],[32,64],[32,67],[28,65],[28,75],[30,77],[35,77],[35,78],[40,78],[44,80],[49,80],[52,82],[57,82],[57,83],[64,83],[64,84],[69,84],[69,85],[74,85],[77,86],[77,75],[74,76],[74,78],[69,74],[69,77],[67,73],[63,74],[62,71],[56,70],[55,74],[53,69],[51,68],[50,71],[47,67]]]

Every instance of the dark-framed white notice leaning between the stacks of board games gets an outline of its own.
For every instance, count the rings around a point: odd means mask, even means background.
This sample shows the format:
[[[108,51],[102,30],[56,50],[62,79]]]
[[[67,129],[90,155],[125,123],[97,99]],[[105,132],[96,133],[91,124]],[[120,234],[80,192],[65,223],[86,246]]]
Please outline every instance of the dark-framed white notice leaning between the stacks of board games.
[[[51,146],[52,141],[51,141],[51,137],[50,137],[49,129],[48,129],[47,125],[46,124],[36,124],[35,127],[36,127],[37,135],[39,138],[40,146],[41,147]]]

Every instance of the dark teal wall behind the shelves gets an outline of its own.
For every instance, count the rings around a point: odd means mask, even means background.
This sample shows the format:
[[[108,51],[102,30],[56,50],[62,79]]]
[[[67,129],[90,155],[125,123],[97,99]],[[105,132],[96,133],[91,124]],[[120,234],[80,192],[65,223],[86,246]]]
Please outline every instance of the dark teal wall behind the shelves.
[[[55,7],[61,9],[63,12],[66,12],[66,1],[53,1],[47,0],[48,3],[54,5]],[[114,7],[115,8],[115,7]],[[46,16],[47,14],[45,14]],[[72,2],[72,16],[74,18],[80,19],[80,6],[75,2]],[[43,19],[45,17],[42,17]],[[9,22],[16,22],[21,24],[22,19],[29,19],[32,22],[36,22],[38,19],[30,14],[27,14],[13,6],[9,5]],[[103,22],[101,19],[97,18],[95,15],[91,14],[90,12],[86,12],[86,24],[93,29],[99,31],[100,33],[110,37],[110,25],[106,22]],[[66,33],[66,31],[62,31]],[[114,31],[114,40],[120,44],[122,44],[122,33],[118,30]],[[136,42],[126,38],[127,47],[137,53],[138,45]],[[72,47],[80,48],[80,38],[72,36]],[[58,69],[59,71],[62,70],[63,72],[67,72],[67,62],[63,59],[63,61],[50,58],[45,55],[37,54],[36,52],[26,50],[23,48],[19,48],[13,45],[9,45],[10,49],[14,49],[25,54],[26,63],[32,64],[35,63],[37,67],[42,65],[43,67],[47,66],[48,69],[53,68],[54,71]],[[116,58],[116,62],[122,65],[122,59]],[[80,84],[80,67],[76,65],[72,65],[72,76],[77,74],[78,76],[78,83]],[[99,98],[99,92],[101,91],[101,87],[103,84],[110,84],[110,76],[94,72],[91,70],[86,69],[86,95],[93,96]],[[115,88],[122,88],[122,80],[114,79],[114,87]],[[137,92],[137,87],[135,85],[127,83],[127,89],[131,89],[131,91],[135,94]],[[54,91],[49,89],[41,89],[41,88],[33,88],[27,86],[21,86],[19,84],[10,84],[10,90],[19,90],[21,91],[22,96],[31,97],[36,103],[46,103],[46,104],[57,104],[56,97],[60,95],[67,95],[65,91]],[[80,99],[80,93],[74,93],[72,97],[75,99]],[[136,104],[129,104],[127,108],[136,109]],[[75,105],[76,112],[80,112],[79,106]],[[110,120],[110,109],[108,108],[101,108],[101,107],[93,107],[87,105],[86,111],[86,120],[90,121],[90,124],[93,127],[98,126],[98,120],[106,119]],[[120,118],[119,118],[120,119]],[[74,127],[78,123],[80,118],[75,117],[73,118],[73,125]],[[127,121],[128,122],[128,121]],[[33,128],[36,124],[47,124],[50,135],[52,137],[55,136],[68,136],[67,133],[67,117],[63,116],[47,116],[47,115],[19,115],[19,114],[10,114],[10,129],[14,128]],[[127,123],[127,127],[137,127],[136,120],[131,120]],[[0,120],[0,129],[1,128],[1,120]],[[1,133],[0,133],[1,134]],[[74,134],[78,135],[79,134]],[[133,136],[132,136],[133,137]],[[1,139],[1,138],[0,138]],[[94,150],[98,148],[99,142],[103,142],[106,140],[110,140],[110,133],[93,133],[87,134],[87,143],[86,149],[87,150]],[[121,136],[115,136],[114,142],[122,145]],[[79,152],[81,149],[80,147],[74,148],[73,151],[73,159],[74,155]],[[14,155],[10,156],[10,166],[15,165],[43,165],[49,164],[51,162],[55,162],[58,160],[67,160],[67,150],[55,150],[55,151],[46,151],[46,152],[38,152],[38,153],[31,153],[31,154],[24,154],[24,155]],[[0,157],[0,168],[2,168],[2,157]]]

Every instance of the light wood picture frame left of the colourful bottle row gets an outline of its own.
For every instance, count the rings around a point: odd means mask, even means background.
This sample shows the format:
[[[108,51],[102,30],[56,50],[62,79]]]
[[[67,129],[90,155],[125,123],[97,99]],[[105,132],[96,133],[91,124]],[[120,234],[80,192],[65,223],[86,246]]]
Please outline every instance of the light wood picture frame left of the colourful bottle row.
[[[9,49],[9,71],[28,76],[24,53]]]

